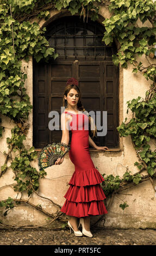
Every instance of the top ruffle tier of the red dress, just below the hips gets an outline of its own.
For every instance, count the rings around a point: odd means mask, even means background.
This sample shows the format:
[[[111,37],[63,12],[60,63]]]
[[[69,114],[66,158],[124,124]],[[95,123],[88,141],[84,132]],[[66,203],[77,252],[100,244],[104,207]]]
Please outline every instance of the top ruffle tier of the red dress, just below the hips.
[[[92,168],[88,170],[75,170],[68,184],[74,186],[89,186],[100,184],[102,181],[104,181],[103,176],[96,168]]]

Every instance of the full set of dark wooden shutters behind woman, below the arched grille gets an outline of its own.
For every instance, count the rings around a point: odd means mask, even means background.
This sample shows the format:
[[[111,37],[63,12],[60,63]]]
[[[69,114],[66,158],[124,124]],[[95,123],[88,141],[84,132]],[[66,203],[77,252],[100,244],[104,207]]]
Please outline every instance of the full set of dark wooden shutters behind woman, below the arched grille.
[[[66,81],[75,77],[82,92],[82,103],[89,111],[107,111],[107,135],[94,137],[97,145],[117,147],[118,133],[118,72],[111,61],[55,60],[49,64],[38,64],[34,71],[34,146],[42,148],[53,141],[61,141],[61,126],[58,130],[48,129],[48,113],[61,114]],[[91,136],[91,133],[90,133]],[[71,139],[71,132],[70,132]]]

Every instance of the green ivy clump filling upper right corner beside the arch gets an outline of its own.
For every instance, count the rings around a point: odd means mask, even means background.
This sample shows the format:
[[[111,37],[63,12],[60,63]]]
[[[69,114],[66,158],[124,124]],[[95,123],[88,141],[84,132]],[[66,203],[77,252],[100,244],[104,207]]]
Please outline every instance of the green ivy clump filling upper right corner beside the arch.
[[[150,52],[155,52],[156,5],[152,0],[110,0],[109,11],[113,11],[113,16],[103,21],[106,29],[103,41],[108,45],[116,37],[120,43],[120,50],[113,55],[115,65],[120,63],[123,68],[127,68],[128,62],[135,65],[136,58],[142,54],[148,56]],[[136,26],[138,19],[142,23],[154,19],[151,21],[152,28]],[[141,64],[136,66],[133,72],[137,72],[141,68]],[[146,70],[144,76],[146,79],[151,79],[155,74],[155,67],[152,66]]]

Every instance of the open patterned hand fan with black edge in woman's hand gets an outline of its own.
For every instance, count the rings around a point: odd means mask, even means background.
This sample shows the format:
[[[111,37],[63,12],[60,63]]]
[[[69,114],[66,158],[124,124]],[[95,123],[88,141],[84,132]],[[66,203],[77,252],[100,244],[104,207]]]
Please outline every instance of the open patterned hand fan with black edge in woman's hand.
[[[42,149],[39,156],[38,166],[40,170],[53,166],[55,161],[59,157],[62,159],[69,150],[70,147],[65,143],[53,142],[52,144],[48,144],[47,147]]]

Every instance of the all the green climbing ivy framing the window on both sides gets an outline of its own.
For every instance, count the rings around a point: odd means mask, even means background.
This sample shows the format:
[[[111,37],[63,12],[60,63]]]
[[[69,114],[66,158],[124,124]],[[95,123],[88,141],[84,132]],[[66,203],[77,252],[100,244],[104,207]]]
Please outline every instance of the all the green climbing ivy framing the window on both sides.
[[[30,104],[26,88],[24,88],[27,74],[22,71],[22,59],[26,62],[33,56],[36,62],[44,59],[48,62],[51,58],[56,59],[58,54],[54,48],[49,46],[45,38],[46,28],[39,27],[38,22],[32,22],[33,18],[38,20],[49,19],[49,11],[53,8],[58,10],[67,9],[71,15],[79,14],[84,20],[90,16],[93,21],[98,19],[98,11],[101,5],[108,7],[111,17],[105,19],[105,33],[103,41],[106,45],[111,44],[113,40],[118,41],[117,54],[113,55],[115,65],[120,64],[122,68],[127,68],[128,63],[133,65],[133,73],[141,72],[146,80],[152,81],[152,84],[146,92],[145,99],[139,96],[127,102],[128,109],[132,111],[133,118],[128,123],[127,118],[117,127],[120,137],[132,138],[132,143],[138,155],[138,162],[134,166],[138,167],[138,173],[133,175],[126,170],[123,178],[118,175],[108,175],[104,177],[102,183],[106,196],[111,196],[108,208],[116,193],[120,194],[129,187],[136,186],[139,183],[156,178],[155,175],[155,155],[148,142],[155,139],[155,119],[156,119],[156,5],[152,0],[1,0],[0,2],[0,113],[10,118],[14,122],[14,128],[11,129],[11,138],[7,138],[8,153],[5,151],[5,161],[1,166],[0,177],[11,168],[15,174],[15,184],[6,185],[13,188],[17,194],[21,193],[20,199],[9,197],[0,202],[0,207],[5,208],[4,216],[8,214],[15,204],[26,203],[35,209],[44,212],[52,217],[52,221],[61,220],[60,212],[56,215],[49,214],[42,209],[41,205],[33,205],[29,202],[33,193],[38,194],[39,178],[44,178],[46,172],[38,172],[31,166],[31,162],[38,156],[34,149],[26,149],[23,141],[26,140],[29,130],[28,116],[33,106]],[[142,26],[137,25],[137,21],[142,22]],[[150,22],[150,26],[144,27],[145,22]],[[143,66],[139,57],[145,55],[148,65]],[[139,60],[139,61],[138,61]],[[0,118],[0,137],[6,127],[2,125]],[[16,156],[12,157],[12,153]],[[10,166],[8,162],[11,160]],[[142,175],[143,170],[147,175]],[[104,176],[105,174],[103,174]],[[0,189],[3,189],[1,187]],[[155,188],[154,188],[155,190]],[[22,192],[28,193],[28,200],[22,199]],[[39,196],[39,194],[38,194]],[[40,196],[41,197],[41,196]],[[42,197],[45,198],[45,197]],[[54,202],[51,199],[45,198]],[[55,204],[59,209],[60,206]],[[127,202],[120,204],[124,210],[128,207]],[[4,225],[1,223],[1,225]],[[46,225],[46,224],[45,224]],[[15,225],[13,225],[15,227]],[[64,225],[62,226],[64,227]]]

